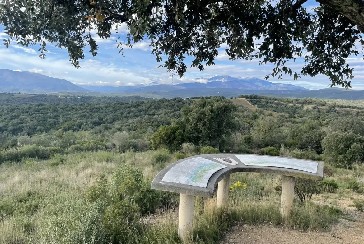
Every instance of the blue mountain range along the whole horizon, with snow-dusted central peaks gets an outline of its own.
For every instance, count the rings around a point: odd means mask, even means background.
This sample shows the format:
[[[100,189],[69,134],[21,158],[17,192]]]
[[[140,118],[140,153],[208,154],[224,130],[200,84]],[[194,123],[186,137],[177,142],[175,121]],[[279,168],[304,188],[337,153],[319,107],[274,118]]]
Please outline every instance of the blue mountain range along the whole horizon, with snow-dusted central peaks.
[[[193,83],[158,84],[137,86],[75,85],[64,79],[56,79],[39,73],[17,72],[0,69],[0,92],[20,93],[73,93],[92,96],[135,95],[152,98],[265,95],[274,97],[317,97],[320,99],[364,99],[364,91],[325,88],[309,90],[296,85],[272,83],[256,77],[232,77],[229,75],[195,79]]]

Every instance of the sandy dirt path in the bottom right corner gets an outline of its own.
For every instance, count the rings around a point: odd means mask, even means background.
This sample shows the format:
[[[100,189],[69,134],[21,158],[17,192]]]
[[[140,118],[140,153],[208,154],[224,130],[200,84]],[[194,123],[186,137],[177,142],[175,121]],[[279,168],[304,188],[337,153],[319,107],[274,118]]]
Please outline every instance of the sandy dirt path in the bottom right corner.
[[[350,211],[349,214],[354,221],[341,220],[326,232],[237,224],[219,244],[364,244],[364,213]]]

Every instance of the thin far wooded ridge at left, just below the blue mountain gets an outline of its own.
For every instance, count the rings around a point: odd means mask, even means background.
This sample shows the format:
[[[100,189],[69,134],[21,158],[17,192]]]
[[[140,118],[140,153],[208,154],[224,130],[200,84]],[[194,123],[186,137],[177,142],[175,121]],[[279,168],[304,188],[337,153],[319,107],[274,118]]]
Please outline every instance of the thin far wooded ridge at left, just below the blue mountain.
[[[80,104],[80,103],[107,103],[134,101],[147,101],[150,98],[140,96],[72,96],[72,95],[49,95],[49,94],[16,94],[0,93],[0,105],[32,104],[32,103],[60,103],[60,104]]]

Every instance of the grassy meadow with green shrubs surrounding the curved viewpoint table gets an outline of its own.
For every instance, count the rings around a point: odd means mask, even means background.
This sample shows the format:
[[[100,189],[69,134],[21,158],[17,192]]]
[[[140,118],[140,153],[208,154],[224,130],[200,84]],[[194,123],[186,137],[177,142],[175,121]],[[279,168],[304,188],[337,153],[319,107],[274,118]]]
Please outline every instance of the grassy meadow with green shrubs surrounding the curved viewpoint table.
[[[55,155],[50,160],[3,163],[0,166],[0,243],[180,243],[177,236],[178,194],[151,190],[150,183],[162,168],[191,155],[164,149],[126,153],[101,151]],[[158,199],[152,207],[148,205],[151,205],[149,200],[148,203],[138,202],[146,207],[138,209],[127,225],[124,220],[121,224],[110,222],[117,213],[111,212],[112,218],[107,219],[107,211],[98,211],[107,209],[102,205],[105,203],[90,200],[101,194],[101,188],[95,185],[95,182],[101,182],[100,174],[104,174],[111,184],[114,175],[124,167],[137,167],[142,172],[139,184],[142,185],[142,200]],[[347,185],[354,177],[363,185],[363,167],[335,169],[331,178],[338,183],[339,194],[324,192],[326,199],[350,196],[354,201],[360,194],[354,191],[360,192],[360,189],[353,191]],[[295,199],[292,216],[283,220],[279,211],[280,191],[275,189],[279,176],[234,173],[230,180],[229,209],[225,211],[216,210],[215,199],[195,197],[194,235],[190,243],[214,243],[221,231],[236,221],[326,230],[330,224],[347,217],[335,201],[312,200],[301,204]],[[238,181],[242,184],[237,184]],[[103,200],[102,197],[98,199]],[[115,206],[119,205],[112,206],[115,211]],[[110,235],[120,229],[121,238]]]

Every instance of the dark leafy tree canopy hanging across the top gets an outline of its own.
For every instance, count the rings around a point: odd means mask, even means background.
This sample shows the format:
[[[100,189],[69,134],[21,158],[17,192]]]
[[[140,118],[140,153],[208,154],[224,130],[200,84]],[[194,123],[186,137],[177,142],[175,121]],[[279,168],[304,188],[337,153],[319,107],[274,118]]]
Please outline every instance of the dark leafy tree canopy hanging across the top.
[[[122,45],[149,39],[157,61],[179,76],[187,70],[186,56],[193,57],[191,67],[203,70],[214,64],[218,48],[226,47],[232,60],[276,64],[266,78],[323,74],[332,85],[350,87],[353,68],[345,59],[359,55],[356,43],[364,44],[364,1],[317,0],[320,7],[313,11],[303,6],[306,1],[2,0],[0,23],[9,35],[7,47],[13,39],[39,45],[44,58],[46,41],[57,43],[67,49],[75,67],[86,48],[97,54],[92,30],[109,38],[126,24],[125,44],[118,38],[119,52]],[[299,73],[286,63],[297,57],[305,60]]]

